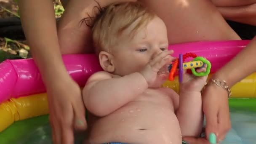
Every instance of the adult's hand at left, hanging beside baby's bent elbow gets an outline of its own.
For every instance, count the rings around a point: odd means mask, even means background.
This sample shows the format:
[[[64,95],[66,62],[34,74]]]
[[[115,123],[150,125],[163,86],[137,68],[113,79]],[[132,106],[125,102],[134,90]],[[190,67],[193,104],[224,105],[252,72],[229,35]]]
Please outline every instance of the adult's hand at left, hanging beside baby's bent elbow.
[[[79,85],[65,75],[47,85],[47,93],[53,143],[73,144],[74,129],[87,128]]]

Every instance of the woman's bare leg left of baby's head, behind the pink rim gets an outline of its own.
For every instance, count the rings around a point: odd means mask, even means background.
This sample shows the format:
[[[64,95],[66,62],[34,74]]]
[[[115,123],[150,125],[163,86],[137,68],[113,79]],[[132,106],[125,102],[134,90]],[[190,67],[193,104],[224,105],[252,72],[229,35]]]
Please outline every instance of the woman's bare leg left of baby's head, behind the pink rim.
[[[92,9],[104,7],[113,2],[136,0],[62,0],[65,11],[58,23],[58,38],[61,53],[92,53],[90,28],[81,20],[93,15]]]

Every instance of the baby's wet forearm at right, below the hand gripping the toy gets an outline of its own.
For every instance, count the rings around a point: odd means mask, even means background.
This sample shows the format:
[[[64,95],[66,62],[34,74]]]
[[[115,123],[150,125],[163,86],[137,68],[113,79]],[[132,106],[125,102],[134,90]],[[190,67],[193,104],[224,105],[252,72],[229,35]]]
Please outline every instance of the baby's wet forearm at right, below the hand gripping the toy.
[[[182,136],[200,136],[203,128],[201,93],[181,91],[176,116],[179,120]]]

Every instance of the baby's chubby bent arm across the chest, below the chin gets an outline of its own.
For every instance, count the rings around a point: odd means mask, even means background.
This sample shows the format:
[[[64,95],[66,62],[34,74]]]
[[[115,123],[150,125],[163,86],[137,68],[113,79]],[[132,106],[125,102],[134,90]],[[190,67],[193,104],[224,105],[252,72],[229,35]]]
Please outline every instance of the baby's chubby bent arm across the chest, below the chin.
[[[108,72],[97,72],[83,89],[83,101],[93,115],[103,117],[132,101],[147,88],[147,81],[139,72],[117,78]]]

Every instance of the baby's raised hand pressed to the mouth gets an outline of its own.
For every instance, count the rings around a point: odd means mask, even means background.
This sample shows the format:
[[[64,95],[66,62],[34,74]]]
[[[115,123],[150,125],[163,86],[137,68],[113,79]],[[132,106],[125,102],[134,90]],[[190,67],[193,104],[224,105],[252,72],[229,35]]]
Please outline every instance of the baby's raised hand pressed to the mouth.
[[[141,70],[140,73],[147,80],[149,87],[160,86],[162,83],[157,83],[159,82],[160,78],[165,80],[167,79],[167,77],[161,77],[160,75],[158,75],[157,72],[166,64],[171,64],[171,61],[175,59],[170,56],[171,54],[173,54],[173,50],[163,51],[162,53],[159,53],[154,59],[149,61],[144,69]]]

